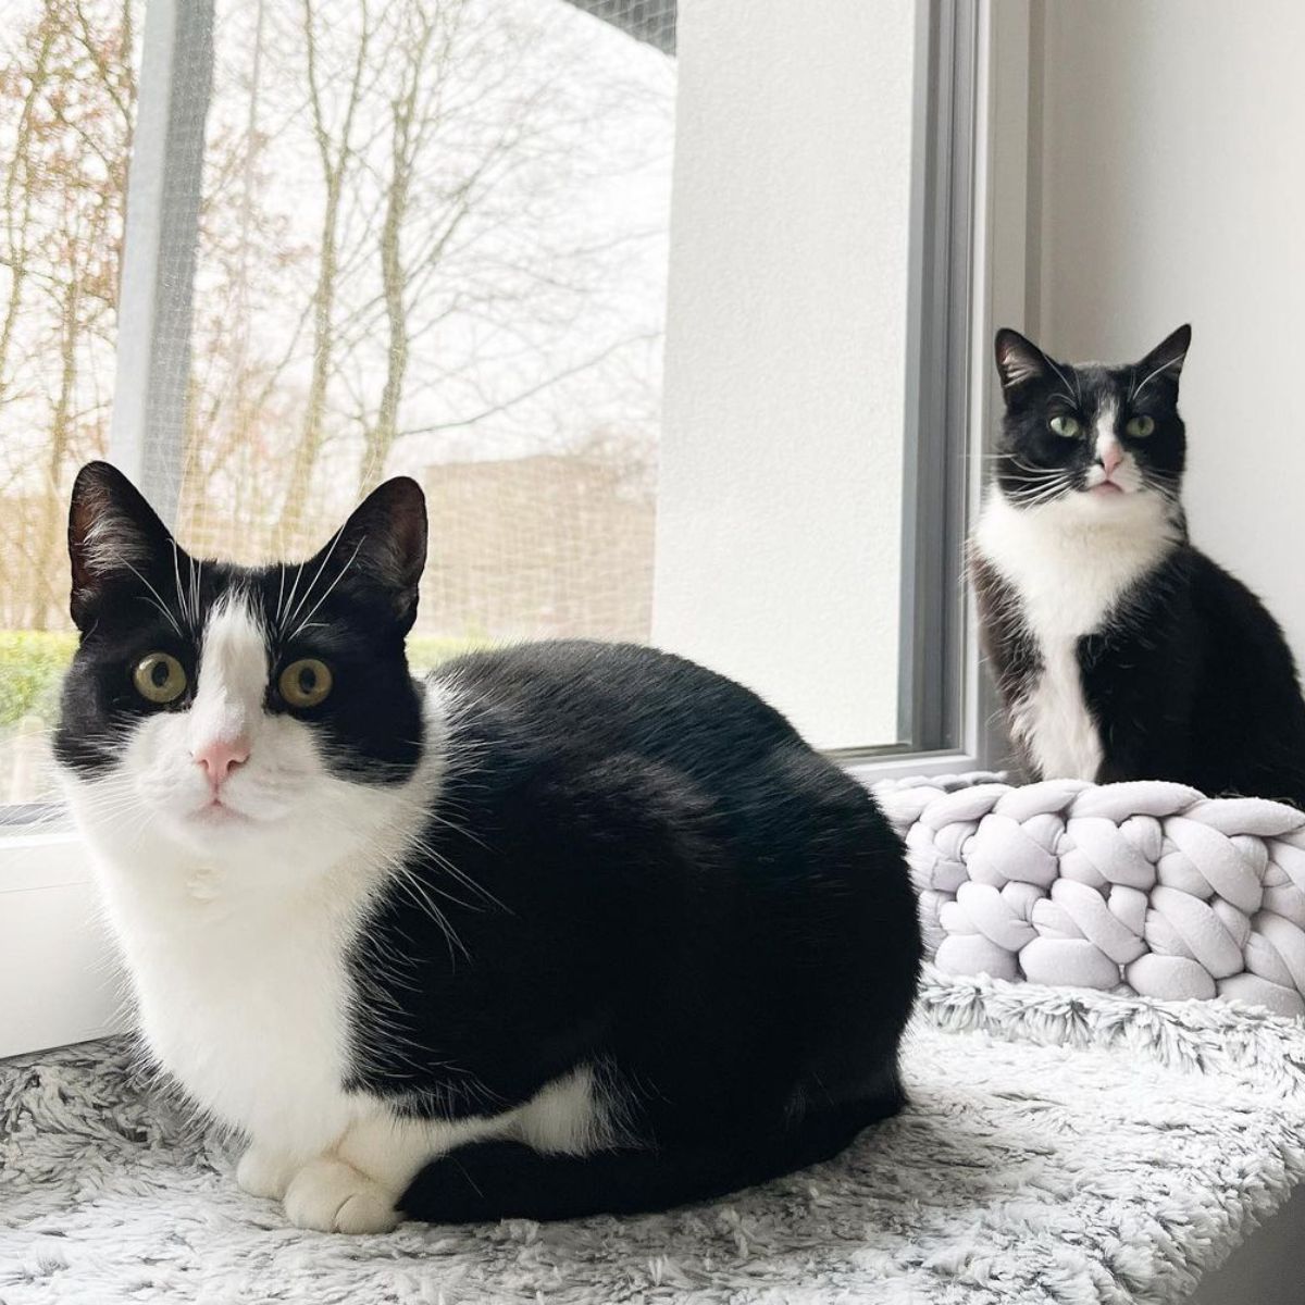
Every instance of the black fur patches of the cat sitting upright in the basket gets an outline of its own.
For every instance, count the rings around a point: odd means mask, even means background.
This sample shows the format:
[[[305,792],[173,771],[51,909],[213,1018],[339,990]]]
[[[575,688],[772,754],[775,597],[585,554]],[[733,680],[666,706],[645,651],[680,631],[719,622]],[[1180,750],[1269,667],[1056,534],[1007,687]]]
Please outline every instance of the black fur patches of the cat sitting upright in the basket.
[[[1139,363],[1074,365],[1000,331],[1006,415],[997,487],[1017,505],[1037,501],[1047,483],[1039,472],[1062,467],[1065,492],[1077,492],[1094,465],[1091,442],[1051,433],[1049,419],[1075,415],[1092,431],[1101,406],[1116,405],[1118,437],[1138,461],[1143,492],[1168,501],[1173,539],[1103,628],[1078,642],[1083,694],[1103,746],[1100,769],[1088,778],[1171,779],[1211,795],[1305,808],[1305,702],[1287,641],[1263,603],[1188,538],[1178,499],[1186,431],[1177,405],[1189,342],[1184,326]],[[1125,429],[1138,414],[1155,422],[1144,440]],[[1040,672],[1036,641],[1018,594],[976,552],[971,576],[985,652],[1013,707]],[[1065,585],[1074,585],[1073,574]]]

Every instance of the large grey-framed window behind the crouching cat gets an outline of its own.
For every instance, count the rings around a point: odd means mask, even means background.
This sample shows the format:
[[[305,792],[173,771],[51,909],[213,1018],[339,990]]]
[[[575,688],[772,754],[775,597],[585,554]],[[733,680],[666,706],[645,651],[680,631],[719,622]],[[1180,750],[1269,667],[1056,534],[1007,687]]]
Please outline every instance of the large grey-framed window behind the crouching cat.
[[[23,0],[9,823],[48,797],[64,504],[106,454],[245,560],[416,476],[418,664],[652,639],[850,761],[975,756],[980,35],[949,0]]]

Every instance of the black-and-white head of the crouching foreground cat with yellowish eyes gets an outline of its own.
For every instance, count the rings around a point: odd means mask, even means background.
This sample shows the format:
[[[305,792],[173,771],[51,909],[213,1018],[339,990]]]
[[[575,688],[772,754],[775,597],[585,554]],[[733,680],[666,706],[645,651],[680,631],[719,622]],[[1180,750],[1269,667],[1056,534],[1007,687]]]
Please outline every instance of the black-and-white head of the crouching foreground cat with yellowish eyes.
[[[307,562],[241,568],[189,557],[98,462],[68,538],[81,642],[55,754],[91,837],[215,863],[365,837],[422,756],[403,650],[425,561],[418,485],[382,485]]]

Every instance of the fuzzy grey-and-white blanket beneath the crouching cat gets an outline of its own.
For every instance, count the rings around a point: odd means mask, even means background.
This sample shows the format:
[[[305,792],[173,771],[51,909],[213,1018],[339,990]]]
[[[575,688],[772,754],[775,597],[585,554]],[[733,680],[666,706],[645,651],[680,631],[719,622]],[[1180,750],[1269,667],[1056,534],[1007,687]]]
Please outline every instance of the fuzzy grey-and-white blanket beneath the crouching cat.
[[[944,980],[911,1105],[839,1160],[639,1219],[347,1238],[102,1043],[0,1065],[0,1302],[1172,1301],[1305,1173],[1305,1031],[1212,1002]]]

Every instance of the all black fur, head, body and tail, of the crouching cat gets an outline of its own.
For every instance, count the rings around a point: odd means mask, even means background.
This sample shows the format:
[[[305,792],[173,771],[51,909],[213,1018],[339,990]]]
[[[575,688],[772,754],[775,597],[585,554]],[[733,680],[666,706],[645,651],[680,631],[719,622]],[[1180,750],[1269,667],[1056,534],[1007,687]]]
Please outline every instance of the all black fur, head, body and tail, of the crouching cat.
[[[138,576],[93,574],[78,504],[155,542]],[[330,659],[335,690],[299,715],[364,783],[407,778],[422,740],[403,636],[424,532],[418,487],[382,485],[334,542],[354,565],[313,628],[270,649],[273,664]],[[56,746],[94,773],[132,713],[185,706],[133,697],[134,662],[162,649],[193,677],[200,642],[150,602],[172,590],[171,544],[103,463],[82,471],[70,540],[84,637]],[[292,576],[206,564],[200,609],[240,585],[274,628]],[[424,745],[446,767],[407,874],[347,959],[347,1086],[401,1114],[466,1118],[589,1065],[619,1137],[589,1155],[463,1146],[418,1174],[403,1210],[663,1208],[825,1160],[899,1109],[920,936],[902,844],[857,783],[753,693],[650,649],[476,652],[432,683],[449,718]],[[288,710],[274,694],[265,709]]]

